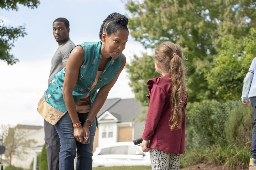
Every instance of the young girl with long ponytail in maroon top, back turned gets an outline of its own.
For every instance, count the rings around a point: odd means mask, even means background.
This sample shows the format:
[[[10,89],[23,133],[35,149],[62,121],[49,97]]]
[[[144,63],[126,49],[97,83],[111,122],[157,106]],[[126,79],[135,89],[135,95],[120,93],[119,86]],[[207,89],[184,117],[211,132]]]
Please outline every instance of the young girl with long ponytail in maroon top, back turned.
[[[185,148],[184,55],[180,46],[163,42],[155,50],[155,68],[162,77],[147,82],[150,99],[142,151],[150,151],[152,170],[179,169],[180,154]]]

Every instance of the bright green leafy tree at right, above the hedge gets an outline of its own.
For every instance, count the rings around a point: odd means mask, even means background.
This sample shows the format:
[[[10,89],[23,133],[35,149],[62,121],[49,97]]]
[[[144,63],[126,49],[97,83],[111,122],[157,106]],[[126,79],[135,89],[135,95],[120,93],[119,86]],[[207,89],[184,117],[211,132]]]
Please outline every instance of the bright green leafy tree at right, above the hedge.
[[[241,96],[246,76],[256,49],[256,30],[252,28],[243,40],[234,35],[219,38],[221,48],[212,61],[206,79],[212,88],[224,98],[237,100]]]

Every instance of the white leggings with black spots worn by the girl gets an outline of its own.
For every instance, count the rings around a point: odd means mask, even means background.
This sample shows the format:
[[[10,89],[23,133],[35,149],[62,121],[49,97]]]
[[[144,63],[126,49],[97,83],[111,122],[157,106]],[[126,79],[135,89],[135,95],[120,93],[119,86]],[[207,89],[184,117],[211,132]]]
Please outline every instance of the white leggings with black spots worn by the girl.
[[[180,154],[171,154],[157,149],[150,149],[152,170],[178,170]]]

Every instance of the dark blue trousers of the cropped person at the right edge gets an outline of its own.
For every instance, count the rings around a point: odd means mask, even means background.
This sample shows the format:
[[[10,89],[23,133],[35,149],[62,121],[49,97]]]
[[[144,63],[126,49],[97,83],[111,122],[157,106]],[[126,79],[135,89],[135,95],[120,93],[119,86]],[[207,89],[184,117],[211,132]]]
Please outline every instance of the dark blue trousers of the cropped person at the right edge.
[[[253,128],[252,128],[252,150],[251,158],[256,159],[256,97],[251,97],[251,104],[253,108]]]

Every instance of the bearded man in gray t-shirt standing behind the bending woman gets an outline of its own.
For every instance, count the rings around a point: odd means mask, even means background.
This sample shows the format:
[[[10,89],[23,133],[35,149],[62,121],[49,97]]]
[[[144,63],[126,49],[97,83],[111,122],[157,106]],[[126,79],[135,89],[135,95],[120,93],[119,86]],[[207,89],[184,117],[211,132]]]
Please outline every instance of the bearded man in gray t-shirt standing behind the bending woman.
[[[70,50],[75,46],[69,39],[69,22],[66,18],[57,18],[53,22],[52,28],[53,35],[59,47],[51,60],[48,85],[53,76],[67,65]],[[55,126],[48,123],[46,120],[44,120],[44,129],[48,170],[57,170],[59,169],[60,138]]]

